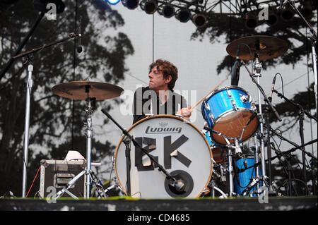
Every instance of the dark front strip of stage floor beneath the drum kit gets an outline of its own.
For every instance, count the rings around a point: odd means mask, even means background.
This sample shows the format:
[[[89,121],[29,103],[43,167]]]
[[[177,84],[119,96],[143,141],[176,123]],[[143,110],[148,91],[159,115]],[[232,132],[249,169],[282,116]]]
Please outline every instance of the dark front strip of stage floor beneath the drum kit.
[[[267,202],[267,203],[266,203]],[[109,197],[106,200],[59,198],[1,199],[1,211],[317,211],[317,195],[305,197],[204,197],[199,199],[131,199]]]

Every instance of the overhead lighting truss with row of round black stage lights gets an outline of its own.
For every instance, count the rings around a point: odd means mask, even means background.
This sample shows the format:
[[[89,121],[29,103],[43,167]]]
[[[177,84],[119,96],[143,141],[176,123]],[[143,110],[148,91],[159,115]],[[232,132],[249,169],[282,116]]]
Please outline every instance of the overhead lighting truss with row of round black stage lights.
[[[109,0],[115,1],[115,0]],[[291,0],[296,6],[306,9],[310,8],[308,2],[316,0]],[[261,23],[275,25],[279,18],[290,20],[294,16],[293,8],[290,8],[288,2],[276,0],[122,0],[122,4],[129,9],[135,9],[138,6],[148,14],[156,11],[160,16],[172,18],[175,16],[182,23],[192,20],[197,28],[204,27],[208,20],[215,16],[233,16],[242,18],[247,28],[254,29]],[[273,9],[269,11],[269,21],[259,20],[261,11]],[[247,14],[249,14],[247,16]],[[250,16],[252,15],[252,16]]]

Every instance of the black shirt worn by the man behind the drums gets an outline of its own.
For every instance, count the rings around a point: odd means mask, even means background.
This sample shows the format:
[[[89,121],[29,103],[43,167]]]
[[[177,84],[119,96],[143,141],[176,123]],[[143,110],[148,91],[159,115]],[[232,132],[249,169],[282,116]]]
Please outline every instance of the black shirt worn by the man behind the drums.
[[[170,90],[169,98],[161,104],[158,95],[149,87],[139,87],[134,93],[133,116],[134,121],[141,120],[148,115],[170,114],[175,115],[180,109],[187,107],[187,101],[182,95]]]

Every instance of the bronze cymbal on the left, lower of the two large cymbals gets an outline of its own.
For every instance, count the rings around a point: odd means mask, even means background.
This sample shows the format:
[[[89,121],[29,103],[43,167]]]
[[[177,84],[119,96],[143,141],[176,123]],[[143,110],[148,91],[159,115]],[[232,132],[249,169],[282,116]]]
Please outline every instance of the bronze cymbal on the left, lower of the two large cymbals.
[[[112,99],[122,95],[123,91],[117,85],[89,80],[71,81],[52,87],[55,95],[76,100],[86,100],[88,97],[95,97],[96,100]]]

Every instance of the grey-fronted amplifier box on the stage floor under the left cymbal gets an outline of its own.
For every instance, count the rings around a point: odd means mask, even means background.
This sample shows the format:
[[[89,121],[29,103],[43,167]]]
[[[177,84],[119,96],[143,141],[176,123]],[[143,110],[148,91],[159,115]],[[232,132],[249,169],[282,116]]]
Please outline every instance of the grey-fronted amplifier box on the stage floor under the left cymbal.
[[[86,168],[86,161],[84,160],[47,160],[42,159],[41,174],[40,174],[40,197],[53,197],[55,193],[66,187],[76,175]],[[83,175],[79,178],[76,183],[69,188],[76,197],[85,196],[85,181],[86,176]],[[54,192],[54,193],[53,193]],[[70,197],[69,194],[64,193],[61,197]]]

